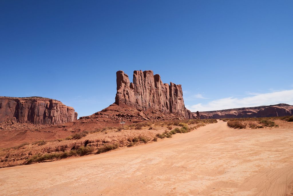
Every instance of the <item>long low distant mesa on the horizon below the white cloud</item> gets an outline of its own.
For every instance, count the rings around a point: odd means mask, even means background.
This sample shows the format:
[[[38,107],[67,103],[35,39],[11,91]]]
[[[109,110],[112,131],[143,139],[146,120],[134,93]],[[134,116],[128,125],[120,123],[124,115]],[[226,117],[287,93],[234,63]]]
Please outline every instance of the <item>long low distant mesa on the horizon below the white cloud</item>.
[[[195,116],[196,113],[193,112]],[[289,116],[293,115],[293,105],[280,103],[277,105],[263,105],[251,108],[234,108],[228,110],[217,110],[200,112],[201,119],[209,118],[262,118],[262,117],[275,117],[275,116]]]

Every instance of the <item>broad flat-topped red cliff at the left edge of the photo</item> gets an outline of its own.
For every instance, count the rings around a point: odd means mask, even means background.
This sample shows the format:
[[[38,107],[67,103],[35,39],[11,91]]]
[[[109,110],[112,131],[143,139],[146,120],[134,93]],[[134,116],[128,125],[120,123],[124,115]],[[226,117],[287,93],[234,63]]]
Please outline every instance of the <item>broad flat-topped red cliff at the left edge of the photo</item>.
[[[14,119],[18,123],[62,124],[77,119],[74,108],[42,97],[0,97],[0,123]]]

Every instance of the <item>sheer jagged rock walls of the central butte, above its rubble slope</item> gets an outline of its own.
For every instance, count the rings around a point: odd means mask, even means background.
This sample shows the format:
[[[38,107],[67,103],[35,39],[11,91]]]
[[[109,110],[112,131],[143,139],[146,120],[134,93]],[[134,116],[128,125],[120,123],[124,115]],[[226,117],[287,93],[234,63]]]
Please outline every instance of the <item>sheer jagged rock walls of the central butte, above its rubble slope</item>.
[[[123,71],[117,71],[116,75],[115,104],[130,105],[141,110],[154,108],[193,118],[185,108],[181,85],[163,83],[160,75],[154,75],[153,71],[134,71],[133,83]]]

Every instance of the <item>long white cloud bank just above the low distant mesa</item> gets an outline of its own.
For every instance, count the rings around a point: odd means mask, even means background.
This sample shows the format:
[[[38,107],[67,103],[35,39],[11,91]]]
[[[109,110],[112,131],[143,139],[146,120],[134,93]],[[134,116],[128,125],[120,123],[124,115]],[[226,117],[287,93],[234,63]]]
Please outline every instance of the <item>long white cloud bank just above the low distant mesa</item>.
[[[231,108],[255,107],[260,105],[274,105],[287,103],[293,105],[293,90],[263,93],[245,98],[223,98],[208,102],[207,104],[198,103],[196,105],[186,105],[190,111],[213,111]]]

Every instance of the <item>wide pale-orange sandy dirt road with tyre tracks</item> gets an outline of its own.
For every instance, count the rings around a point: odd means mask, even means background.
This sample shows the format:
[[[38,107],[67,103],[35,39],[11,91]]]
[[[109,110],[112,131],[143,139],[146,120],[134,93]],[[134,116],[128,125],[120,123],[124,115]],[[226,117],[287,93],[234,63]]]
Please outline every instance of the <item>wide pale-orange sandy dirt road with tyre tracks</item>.
[[[293,129],[226,122],[100,155],[0,169],[0,195],[291,195]]]

